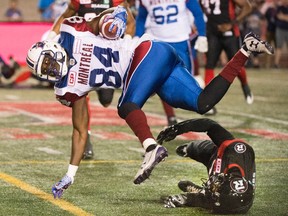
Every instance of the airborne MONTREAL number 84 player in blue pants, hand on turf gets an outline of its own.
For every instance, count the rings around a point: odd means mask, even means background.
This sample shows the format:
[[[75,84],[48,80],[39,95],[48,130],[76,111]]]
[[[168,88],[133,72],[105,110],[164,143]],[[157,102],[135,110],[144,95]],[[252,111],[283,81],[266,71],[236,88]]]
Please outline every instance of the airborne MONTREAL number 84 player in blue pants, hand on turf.
[[[98,88],[122,88],[118,114],[138,137],[145,149],[144,161],[134,183],[140,184],[154,167],[168,156],[165,147],[157,144],[141,110],[153,94],[173,107],[206,113],[225,95],[251,52],[268,54],[273,48],[252,33],[243,47],[203,90],[183,65],[169,44],[149,40],[145,35],[132,39],[107,40],[99,35],[100,18],[91,22],[81,17],[66,19],[61,26],[59,43],[38,42],[28,51],[27,64],[42,79],[55,82],[56,98],[72,107],[72,153],[68,172],[53,186],[55,197],[74,181],[87,140],[88,111],[85,97]],[[126,11],[117,7],[109,15],[119,34],[125,31]],[[106,19],[105,19],[106,20]]]

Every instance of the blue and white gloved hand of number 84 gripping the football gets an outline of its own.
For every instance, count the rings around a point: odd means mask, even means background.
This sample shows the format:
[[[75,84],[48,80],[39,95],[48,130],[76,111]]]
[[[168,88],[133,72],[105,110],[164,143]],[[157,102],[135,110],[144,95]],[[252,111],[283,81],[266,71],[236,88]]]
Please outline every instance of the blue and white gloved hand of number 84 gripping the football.
[[[104,22],[106,22],[108,19],[114,19],[112,24],[109,27],[109,31],[112,32],[114,27],[117,27],[117,37],[121,37],[125,30],[126,30],[126,23],[127,23],[127,11],[125,7],[118,6],[114,12],[110,16],[106,16]]]

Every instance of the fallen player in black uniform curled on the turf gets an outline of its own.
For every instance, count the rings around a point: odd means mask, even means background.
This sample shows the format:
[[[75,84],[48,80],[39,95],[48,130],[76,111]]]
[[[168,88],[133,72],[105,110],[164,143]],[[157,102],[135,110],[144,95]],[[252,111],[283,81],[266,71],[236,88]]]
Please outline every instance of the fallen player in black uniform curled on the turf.
[[[221,214],[246,213],[255,195],[253,148],[208,118],[191,119],[170,126],[160,132],[157,141],[162,144],[189,131],[205,132],[211,140],[196,140],[180,145],[176,153],[204,164],[208,180],[203,181],[202,186],[180,181],[178,187],[185,193],[165,197],[164,206],[202,207]]]

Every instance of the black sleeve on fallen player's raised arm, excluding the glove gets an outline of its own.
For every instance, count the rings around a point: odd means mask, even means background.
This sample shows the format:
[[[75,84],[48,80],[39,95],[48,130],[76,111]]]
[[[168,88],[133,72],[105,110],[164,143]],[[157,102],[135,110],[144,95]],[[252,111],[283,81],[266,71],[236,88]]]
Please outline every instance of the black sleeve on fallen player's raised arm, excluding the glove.
[[[234,139],[234,136],[229,131],[227,131],[217,122],[208,118],[191,119],[183,121],[178,124],[178,127],[179,127],[178,134],[187,133],[189,131],[206,132],[207,135],[218,147],[225,140]]]

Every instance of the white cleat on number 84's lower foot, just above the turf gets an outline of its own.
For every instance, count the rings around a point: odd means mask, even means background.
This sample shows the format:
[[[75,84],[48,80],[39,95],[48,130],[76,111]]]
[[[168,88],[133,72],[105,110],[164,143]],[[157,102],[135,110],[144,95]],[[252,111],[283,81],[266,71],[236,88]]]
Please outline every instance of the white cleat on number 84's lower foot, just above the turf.
[[[141,184],[149,178],[154,167],[168,157],[167,149],[161,145],[156,145],[155,149],[145,152],[141,168],[138,170],[134,184]]]

